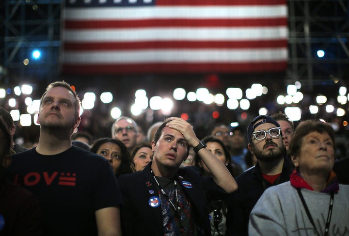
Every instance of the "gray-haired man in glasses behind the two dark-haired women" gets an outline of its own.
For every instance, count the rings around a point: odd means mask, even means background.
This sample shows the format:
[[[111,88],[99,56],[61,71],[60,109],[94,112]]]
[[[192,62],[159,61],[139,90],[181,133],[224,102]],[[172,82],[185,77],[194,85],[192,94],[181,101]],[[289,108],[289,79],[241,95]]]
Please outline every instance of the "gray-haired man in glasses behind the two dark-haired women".
[[[111,126],[111,137],[121,140],[131,152],[137,144],[139,130],[137,123],[126,116],[120,116]]]

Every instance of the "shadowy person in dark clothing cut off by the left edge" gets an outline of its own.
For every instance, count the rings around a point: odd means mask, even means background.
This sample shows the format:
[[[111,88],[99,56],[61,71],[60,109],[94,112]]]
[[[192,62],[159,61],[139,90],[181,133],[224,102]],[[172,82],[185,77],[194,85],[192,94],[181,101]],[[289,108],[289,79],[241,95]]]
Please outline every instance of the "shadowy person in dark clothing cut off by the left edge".
[[[31,192],[4,177],[11,162],[11,135],[0,117],[0,236],[43,236],[42,208]]]

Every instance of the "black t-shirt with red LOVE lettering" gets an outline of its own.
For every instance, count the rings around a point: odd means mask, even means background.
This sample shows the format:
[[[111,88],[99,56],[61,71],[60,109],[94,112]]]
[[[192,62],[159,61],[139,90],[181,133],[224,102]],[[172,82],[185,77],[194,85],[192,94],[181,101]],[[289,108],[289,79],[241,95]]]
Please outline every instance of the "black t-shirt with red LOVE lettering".
[[[74,146],[51,156],[35,148],[15,154],[9,178],[37,196],[50,236],[97,235],[95,211],[122,203],[107,159]]]

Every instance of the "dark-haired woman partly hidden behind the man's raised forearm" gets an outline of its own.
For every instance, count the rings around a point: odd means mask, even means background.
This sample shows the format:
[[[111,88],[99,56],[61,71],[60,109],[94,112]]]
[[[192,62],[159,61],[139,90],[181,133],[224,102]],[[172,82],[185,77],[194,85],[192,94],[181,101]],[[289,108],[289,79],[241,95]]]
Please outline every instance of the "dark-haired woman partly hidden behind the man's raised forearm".
[[[221,140],[215,138],[214,136],[206,136],[203,141],[206,142],[206,148],[215,157],[221,160],[222,163],[224,163],[234,178],[238,176],[238,174],[242,173],[241,167],[231,160],[229,151]],[[206,165],[201,161],[198,154],[196,154],[194,157],[194,166],[199,169],[202,176],[212,176]],[[226,198],[224,200],[211,201],[208,204],[212,236],[225,235],[227,201],[228,199]]]

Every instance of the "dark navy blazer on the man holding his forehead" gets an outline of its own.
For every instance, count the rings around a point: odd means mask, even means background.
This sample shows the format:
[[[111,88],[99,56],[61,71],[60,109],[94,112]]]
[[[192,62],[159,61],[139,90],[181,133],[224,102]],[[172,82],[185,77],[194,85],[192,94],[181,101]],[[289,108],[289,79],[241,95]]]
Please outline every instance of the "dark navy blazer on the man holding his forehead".
[[[152,173],[150,162],[143,171],[121,175],[117,181],[123,198],[120,207],[123,236],[162,236],[163,223],[161,205],[151,207],[149,199],[158,196],[158,187]],[[201,177],[194,167],[178,169],[180,182],[190,182],[192,188],[182,190],[193,207],[193,215],[198,235],[211,235],[207,204],[218,200],[227,193],[215,184],[213,178]],[[182,184],[183,185],[183,184]]]

